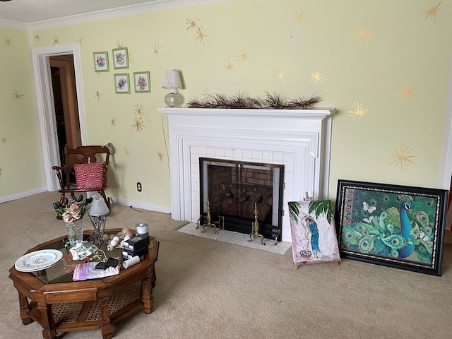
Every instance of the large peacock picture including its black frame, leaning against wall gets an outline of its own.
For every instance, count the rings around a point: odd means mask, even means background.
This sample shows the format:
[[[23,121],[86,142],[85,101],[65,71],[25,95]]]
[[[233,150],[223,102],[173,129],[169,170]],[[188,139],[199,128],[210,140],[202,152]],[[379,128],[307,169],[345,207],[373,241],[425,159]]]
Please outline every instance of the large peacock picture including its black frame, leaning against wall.
[[[441,275],[448,191],[338,181],[343,258]]]

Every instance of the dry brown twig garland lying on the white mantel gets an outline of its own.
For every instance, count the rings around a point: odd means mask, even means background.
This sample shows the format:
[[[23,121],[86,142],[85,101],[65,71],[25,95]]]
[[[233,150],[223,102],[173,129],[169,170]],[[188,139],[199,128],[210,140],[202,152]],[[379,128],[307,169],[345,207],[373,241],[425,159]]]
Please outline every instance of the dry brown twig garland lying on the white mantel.
[[[278,94],[270,94],[266,92],[263,100],[254,97],[244,97],[242,93],[226,97],[222,94],[215,94],[212,97],[206,97],[203,100],[196,98],[187,102],[186,107],[189,108],[229,108],[229,109],[308,109],[313,107],[321,98],[315,95],[305,99],[298,97],[297,99],[289,99],[283,102]]]

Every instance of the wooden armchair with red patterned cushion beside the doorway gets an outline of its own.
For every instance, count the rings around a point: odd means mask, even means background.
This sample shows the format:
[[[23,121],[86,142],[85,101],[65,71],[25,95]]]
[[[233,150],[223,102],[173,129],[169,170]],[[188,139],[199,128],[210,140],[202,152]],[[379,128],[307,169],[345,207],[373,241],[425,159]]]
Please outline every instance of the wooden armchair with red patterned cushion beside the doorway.
[[[54,166],[61,189],[60,203],[63,204],[66,194],[71,198],[83,192],[99,192],[110,208],[110,201],[105,196],[107,169],[110,151],[106,146],[79,146],[64,148],[66,165]]]

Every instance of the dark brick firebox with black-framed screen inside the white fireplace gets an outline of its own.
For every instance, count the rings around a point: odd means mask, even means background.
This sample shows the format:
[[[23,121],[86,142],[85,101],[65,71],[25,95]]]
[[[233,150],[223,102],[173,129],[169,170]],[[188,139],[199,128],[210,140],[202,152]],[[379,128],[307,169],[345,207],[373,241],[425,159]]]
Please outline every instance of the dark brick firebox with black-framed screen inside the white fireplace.
[[[284,165],[199,158],[201,223],[224,218],[225,230],[250,234],[257,209],[259,232],[280,241]]]

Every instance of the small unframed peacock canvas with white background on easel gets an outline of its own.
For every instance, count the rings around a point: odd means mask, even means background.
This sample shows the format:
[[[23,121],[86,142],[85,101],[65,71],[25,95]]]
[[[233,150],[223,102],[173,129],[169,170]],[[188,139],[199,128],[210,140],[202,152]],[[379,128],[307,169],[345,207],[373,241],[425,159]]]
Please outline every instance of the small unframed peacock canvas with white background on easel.
[[[340,261],[331,201],[290,201],[294,265]]]

